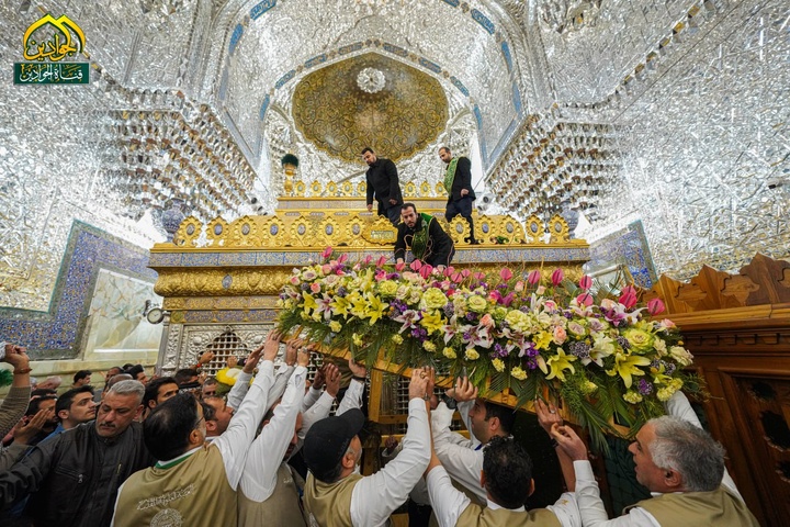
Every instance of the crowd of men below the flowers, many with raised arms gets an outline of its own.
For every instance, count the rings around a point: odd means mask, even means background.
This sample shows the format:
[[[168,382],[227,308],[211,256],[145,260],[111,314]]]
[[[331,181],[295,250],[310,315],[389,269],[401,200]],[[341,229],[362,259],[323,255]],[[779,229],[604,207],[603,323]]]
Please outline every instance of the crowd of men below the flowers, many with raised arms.
[[[13,383],[0,407],[0,435],[11,431],[0,458],[0,525],[368,527],[387,525],[406,502],[416,505],[409,525],[758,525],[724,469],[722,447],[680,393],[630,447],[636,479],[654,497],[614,519],[586,445],[554,405],[537,401],[535,412],[567,492],[526,509],[535,482],[512,437],[514,411],[478,397],[461,378],[447,395],[470,437],[451,431],[454,410],[437,404],[430,368],[411,372],[403,441],[390,440],[390,460],[363,475],[365,367],[350,360],[341,389],[338,367],[327,361],[308,383],[315,347],[287,339],[275,368],[281,340],[269,333],[225,397],[196,369],[148,379],[131,366],[109,372],[95,399],[84,371],[59,396],[32,390],[24,348],[1,343]],[[294,462],[297,453],[305,467]]]

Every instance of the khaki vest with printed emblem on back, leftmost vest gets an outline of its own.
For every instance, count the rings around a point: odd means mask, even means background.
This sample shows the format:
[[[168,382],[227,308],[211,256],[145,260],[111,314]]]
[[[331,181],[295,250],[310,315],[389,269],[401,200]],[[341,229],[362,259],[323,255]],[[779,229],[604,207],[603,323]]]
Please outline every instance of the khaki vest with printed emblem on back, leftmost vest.
[[[173,467],[132,474],[119,496],[114,525],[236,525],[236,507],[219,449],[204,446]]]

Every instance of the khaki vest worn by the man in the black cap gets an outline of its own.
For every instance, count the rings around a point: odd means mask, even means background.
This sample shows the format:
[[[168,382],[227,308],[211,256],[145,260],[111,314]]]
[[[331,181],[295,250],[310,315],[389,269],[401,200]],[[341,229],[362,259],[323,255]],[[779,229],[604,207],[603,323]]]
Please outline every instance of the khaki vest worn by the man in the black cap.
[[[319,527],[348,527],[351,525],[351,493],[362,476],[351,474],[335,483],[324,483],[307,474],[304,505],[308,524]]]

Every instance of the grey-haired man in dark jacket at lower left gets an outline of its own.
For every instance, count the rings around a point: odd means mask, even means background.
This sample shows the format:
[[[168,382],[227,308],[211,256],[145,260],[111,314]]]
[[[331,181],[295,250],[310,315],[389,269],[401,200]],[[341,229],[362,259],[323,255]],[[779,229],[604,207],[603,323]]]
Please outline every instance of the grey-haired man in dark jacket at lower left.
[[[33,448],[0,473],[0,507],[27,494],[25,516],[34,525],[110,525],[115,496],[132,473],[154,464],[135,418],[145,386],[134,380],[113,384],[95,421],[66,430]]]

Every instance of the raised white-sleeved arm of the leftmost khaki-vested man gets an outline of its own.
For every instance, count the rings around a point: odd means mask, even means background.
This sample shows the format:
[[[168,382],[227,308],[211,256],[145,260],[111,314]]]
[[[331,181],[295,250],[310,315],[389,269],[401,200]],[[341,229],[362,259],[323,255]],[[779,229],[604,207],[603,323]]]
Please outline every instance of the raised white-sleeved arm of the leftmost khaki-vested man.
[[[255,439],[258,424],[268,408],[269,389],[274,382],[274,358],[280,347],[280,335],[271,330],[266,343],[258,348],[263,352],[263,363],[252,382],[247,396],[230,419],[227,430],[217,437],[213,445],[219,448],[225,473],[233,490],[236,490],[244,470],[246,452]],[[256,350],[258,351],[258,350]]]

